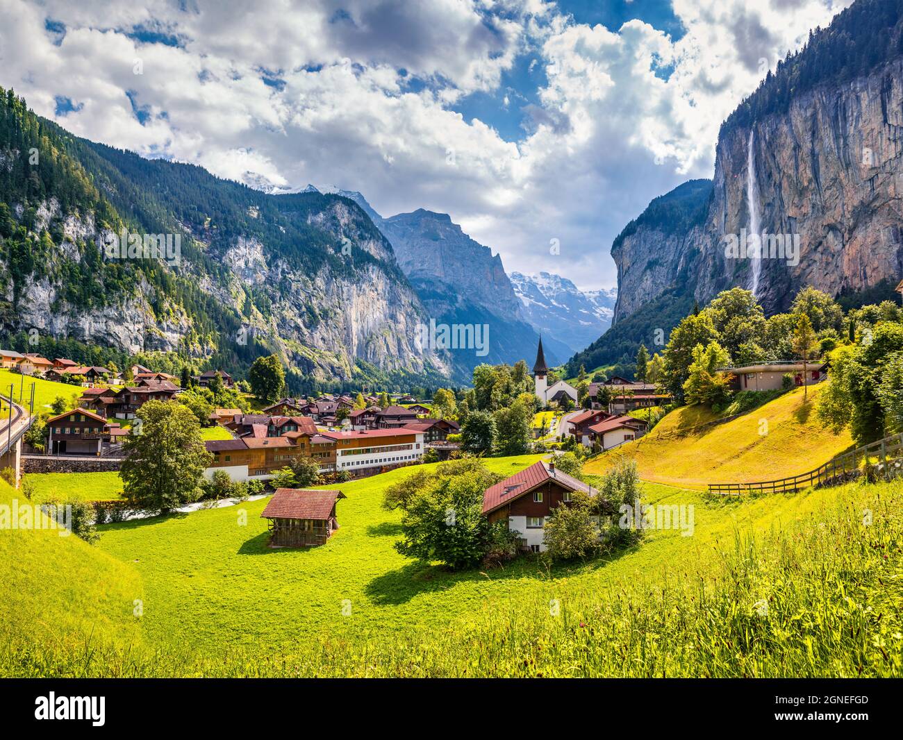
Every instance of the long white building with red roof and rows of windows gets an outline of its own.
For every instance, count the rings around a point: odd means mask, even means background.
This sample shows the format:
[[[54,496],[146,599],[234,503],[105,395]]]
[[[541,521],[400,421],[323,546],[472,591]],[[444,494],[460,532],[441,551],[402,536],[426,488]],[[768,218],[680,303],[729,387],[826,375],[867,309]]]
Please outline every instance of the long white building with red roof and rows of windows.
[[[424,457],[424,432],[406,429],[324,431],[336,443],[336,470],[369,475],[410,465]]]

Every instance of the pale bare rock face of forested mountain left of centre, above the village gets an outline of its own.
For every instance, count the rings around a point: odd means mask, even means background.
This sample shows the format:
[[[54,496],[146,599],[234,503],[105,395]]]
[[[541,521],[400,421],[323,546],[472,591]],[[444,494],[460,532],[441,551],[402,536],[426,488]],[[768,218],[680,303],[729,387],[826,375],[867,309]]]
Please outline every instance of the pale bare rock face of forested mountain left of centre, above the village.
[[[338,244],[352,245],[350,264],[358,249],[395,264],[386,240],[359,228],[361,217],[358,209],[334,199],[310,221]],[[369,261],[353,275],[339,273],[330,265],[309,274],[293,269],[279,254],[268,253],[255,238],[244,237],[221,258],[232,280],[228,286],[208,282],[205,287],[237,305],[242,305],[250,290],[265,290],[271,297],[269,310],[266,315],[254,311],[247,328],[267,338],[303,375],[321,380],[349,378],[355,360],[389,373],[451,372],[441,352],[422,346],[418,326],[428,320],[422,303],[411,286],[383,264]],[[275,286],[278,290],[273,290]]]

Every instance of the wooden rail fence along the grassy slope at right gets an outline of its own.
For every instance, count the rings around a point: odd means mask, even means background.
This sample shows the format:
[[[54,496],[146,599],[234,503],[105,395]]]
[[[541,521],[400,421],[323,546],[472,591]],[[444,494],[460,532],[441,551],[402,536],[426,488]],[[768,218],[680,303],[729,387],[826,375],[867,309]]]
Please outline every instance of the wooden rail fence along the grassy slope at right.
[[[810,486],[839,486],[862,475],[870,465],[880,465],[880,475],[889,479],[890,463],[903,459],[903,434],[894,434],[869,445],[844,452],[824,465],[798,476],[754,483],[710,483],[709,493],[717,495],[782,494]]]

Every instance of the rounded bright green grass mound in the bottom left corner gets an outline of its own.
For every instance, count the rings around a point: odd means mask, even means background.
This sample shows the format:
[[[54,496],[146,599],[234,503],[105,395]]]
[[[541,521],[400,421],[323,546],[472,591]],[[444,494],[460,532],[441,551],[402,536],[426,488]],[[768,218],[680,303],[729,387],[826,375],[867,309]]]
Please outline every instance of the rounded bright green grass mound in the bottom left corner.
[[[0,480],[0,506],[14,499],[28,504]],[[121,658],[140,642],[133,610],[144,586],[134,565],[74,534],[0,530],[0,583],[0,675],[79,671],[86,645]]]

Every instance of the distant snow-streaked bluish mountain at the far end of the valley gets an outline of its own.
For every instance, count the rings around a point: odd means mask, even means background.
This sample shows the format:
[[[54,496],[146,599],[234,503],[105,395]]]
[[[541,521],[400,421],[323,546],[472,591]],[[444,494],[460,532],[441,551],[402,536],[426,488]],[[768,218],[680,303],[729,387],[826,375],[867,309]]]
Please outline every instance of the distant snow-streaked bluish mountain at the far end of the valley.
[[[526,320],[544,339],[555,338],[570,354],[580,352],[611,325],[616,291],[578,290],[561,275],[511,273]]]

